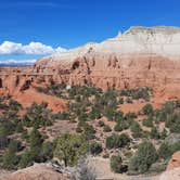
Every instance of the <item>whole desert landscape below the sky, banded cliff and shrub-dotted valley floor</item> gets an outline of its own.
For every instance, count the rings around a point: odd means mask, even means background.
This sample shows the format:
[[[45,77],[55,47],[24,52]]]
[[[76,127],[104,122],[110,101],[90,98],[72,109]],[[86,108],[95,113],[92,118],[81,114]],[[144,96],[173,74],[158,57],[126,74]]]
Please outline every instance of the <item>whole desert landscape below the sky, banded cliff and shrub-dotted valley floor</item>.
[[[0,179],[178,180],[180,28],[0,67]]]

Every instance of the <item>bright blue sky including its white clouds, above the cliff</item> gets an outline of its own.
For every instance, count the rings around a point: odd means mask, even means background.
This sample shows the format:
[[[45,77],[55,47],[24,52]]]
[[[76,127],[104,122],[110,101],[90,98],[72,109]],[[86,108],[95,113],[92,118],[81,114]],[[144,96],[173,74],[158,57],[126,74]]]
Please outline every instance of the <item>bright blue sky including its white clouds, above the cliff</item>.
[[[180,26],[180,0],[0,0],[0,61],[100,42],[136,25]]]

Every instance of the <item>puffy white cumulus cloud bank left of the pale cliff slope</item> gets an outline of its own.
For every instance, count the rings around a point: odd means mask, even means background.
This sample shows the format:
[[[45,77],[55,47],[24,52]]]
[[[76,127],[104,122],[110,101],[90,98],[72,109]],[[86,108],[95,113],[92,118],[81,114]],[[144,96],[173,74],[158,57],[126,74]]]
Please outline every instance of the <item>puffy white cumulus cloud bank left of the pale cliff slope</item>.
[[[22,44],[12,41],[4,41],[0,44],[0,54],[29,54],[29,55],[47,55],[56,51],[66,51],[59,47],[53,49],[51,46],[46,46],[41,42],[30,42],[29,44]]]

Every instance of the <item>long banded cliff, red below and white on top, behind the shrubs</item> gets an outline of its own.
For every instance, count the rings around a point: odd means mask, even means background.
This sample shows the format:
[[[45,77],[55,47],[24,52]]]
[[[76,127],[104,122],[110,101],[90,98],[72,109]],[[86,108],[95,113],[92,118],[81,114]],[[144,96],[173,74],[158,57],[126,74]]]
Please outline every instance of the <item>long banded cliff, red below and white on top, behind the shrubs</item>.
[[[158,95],[173,99],[179,98],[179,70],[180,28],[131,27],[101,43],[38,60],[28,73],[0,73],[0,91],[12,94],[14,89],[27,89],[35,81],[92,83],[104,89],[152,87]]]

